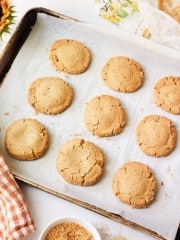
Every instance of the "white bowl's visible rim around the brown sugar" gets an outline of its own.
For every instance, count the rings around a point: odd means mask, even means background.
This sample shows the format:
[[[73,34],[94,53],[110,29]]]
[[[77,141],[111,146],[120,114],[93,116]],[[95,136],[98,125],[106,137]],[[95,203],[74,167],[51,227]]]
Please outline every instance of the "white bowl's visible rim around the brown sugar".
[[[88,232],[90,232],[92,234],[94,240],[101,240],[101,237],[100,237],[98,231],[96,230],[95,227],[93,227],[93,225],[91,225],[89,222],[87,222],[86,220],[84,220],[82,218],[76,218],[76,217],[64,217],[64,218],[57,219],[54,222],[50,223],[44,229],[44,231],[41,233],[39,240],[45,240],[45,237],[51,228],[55,227],[58,224],[69,223],[69,222],[77,223],[77,224],[81,225],[82,227],[84,227]]]

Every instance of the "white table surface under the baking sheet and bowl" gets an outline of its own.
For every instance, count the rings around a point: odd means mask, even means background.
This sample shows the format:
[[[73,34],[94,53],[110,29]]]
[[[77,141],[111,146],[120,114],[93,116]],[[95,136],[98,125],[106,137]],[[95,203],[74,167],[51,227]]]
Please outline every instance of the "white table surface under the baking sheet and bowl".
[[[103,24],[105,26],[110,25],[110,23],[97,15],[93,0],[14,0],[13,3],[16,6],[15,10],[17,12],[16,24],[28,9],[33,7],[46,7],[84,22]],[[15,29],[15,27],[16,25],[14,25],[12,29]],[[4,35],[0,42],[0,52],[3,51],[9,37],[9,35]],[[100,230],[102,240],[120,240],[120,238],[116,238],[117,236],[123,236],[127,240],[154,239],[139,231],[135,231],[51,194],[28,186],[27,184],[22,182],[18,182],[18,184],[25,196],[37,228],[35,233],[22,238],[22,240],[38,240],[40,233],[47,224],[57,218],[65,216],[85,218]]]

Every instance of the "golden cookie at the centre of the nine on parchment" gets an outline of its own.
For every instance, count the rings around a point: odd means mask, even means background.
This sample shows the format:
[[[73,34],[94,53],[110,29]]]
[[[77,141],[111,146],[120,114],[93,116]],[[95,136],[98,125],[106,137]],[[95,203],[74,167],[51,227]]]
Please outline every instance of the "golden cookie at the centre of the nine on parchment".
[[[126,123],[126,114],[117,98],[101,95],[87,104],[84,122],[94,135],[108,137],[122,131]]]

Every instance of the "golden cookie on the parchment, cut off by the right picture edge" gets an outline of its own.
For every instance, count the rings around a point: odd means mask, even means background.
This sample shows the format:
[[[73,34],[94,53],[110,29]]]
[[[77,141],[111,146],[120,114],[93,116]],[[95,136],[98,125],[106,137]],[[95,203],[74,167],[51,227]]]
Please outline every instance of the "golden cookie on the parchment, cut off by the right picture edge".
[[[180,114],[180,77],[165,77],[154,86],[154,100],[163,110]]]

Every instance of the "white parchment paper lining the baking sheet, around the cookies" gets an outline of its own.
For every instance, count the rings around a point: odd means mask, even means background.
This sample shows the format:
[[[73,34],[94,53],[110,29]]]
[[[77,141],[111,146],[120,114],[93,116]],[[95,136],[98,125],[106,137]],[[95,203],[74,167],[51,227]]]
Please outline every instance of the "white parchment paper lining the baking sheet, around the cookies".
[[[90,68],[80,75],[58,73],[49,61],[49,50],[60,38],[84,42],[92,52]],[[100,70],[112,56],[123,55],[139,61],[145,71],[145,83],[135,93],[124,94],[108,89],[101,80]],[[167,239],[174,239],[180,216],[180,118],[163,112],[153,103],[155,82],[165,75],[180,75],[180,58],[174,51],[160,47],[123,31],[98,28],[82,23],[56,19],[38,14],[27,41],[21,48],[0,88],[0,141],[4,143],[5,129],[19,118],[31,117],[42,122],[50,134],[48,152],[39,160],[21,162],[9,157],[2,144],[13,173],[108,212],[143,225]],[[74,89],[70,108],[56,116],[36,115],[27,100],[30,83],[39,77],[56,76],[66,80]],[[124,105],[128,121],[122,133],[109,138],[92,136],[84,126],[86,103],[96,95],[116,96]],[[148,114],[160,114],[173,120],[178,132],[176,149],[165,158],[145,156],[135,144],[138,122]],[[56,173],[55,161],[59,148],[72,138],[83,138],[99,146],[106,157],[105,174],[94,186],[80,187],[64,182]],[[132,209],[120,203],[112,194],[114,172],[127,161],[148,164],[158,181],[156,200],[147,209]],[[161,184],[163,183],[163,184]]]

